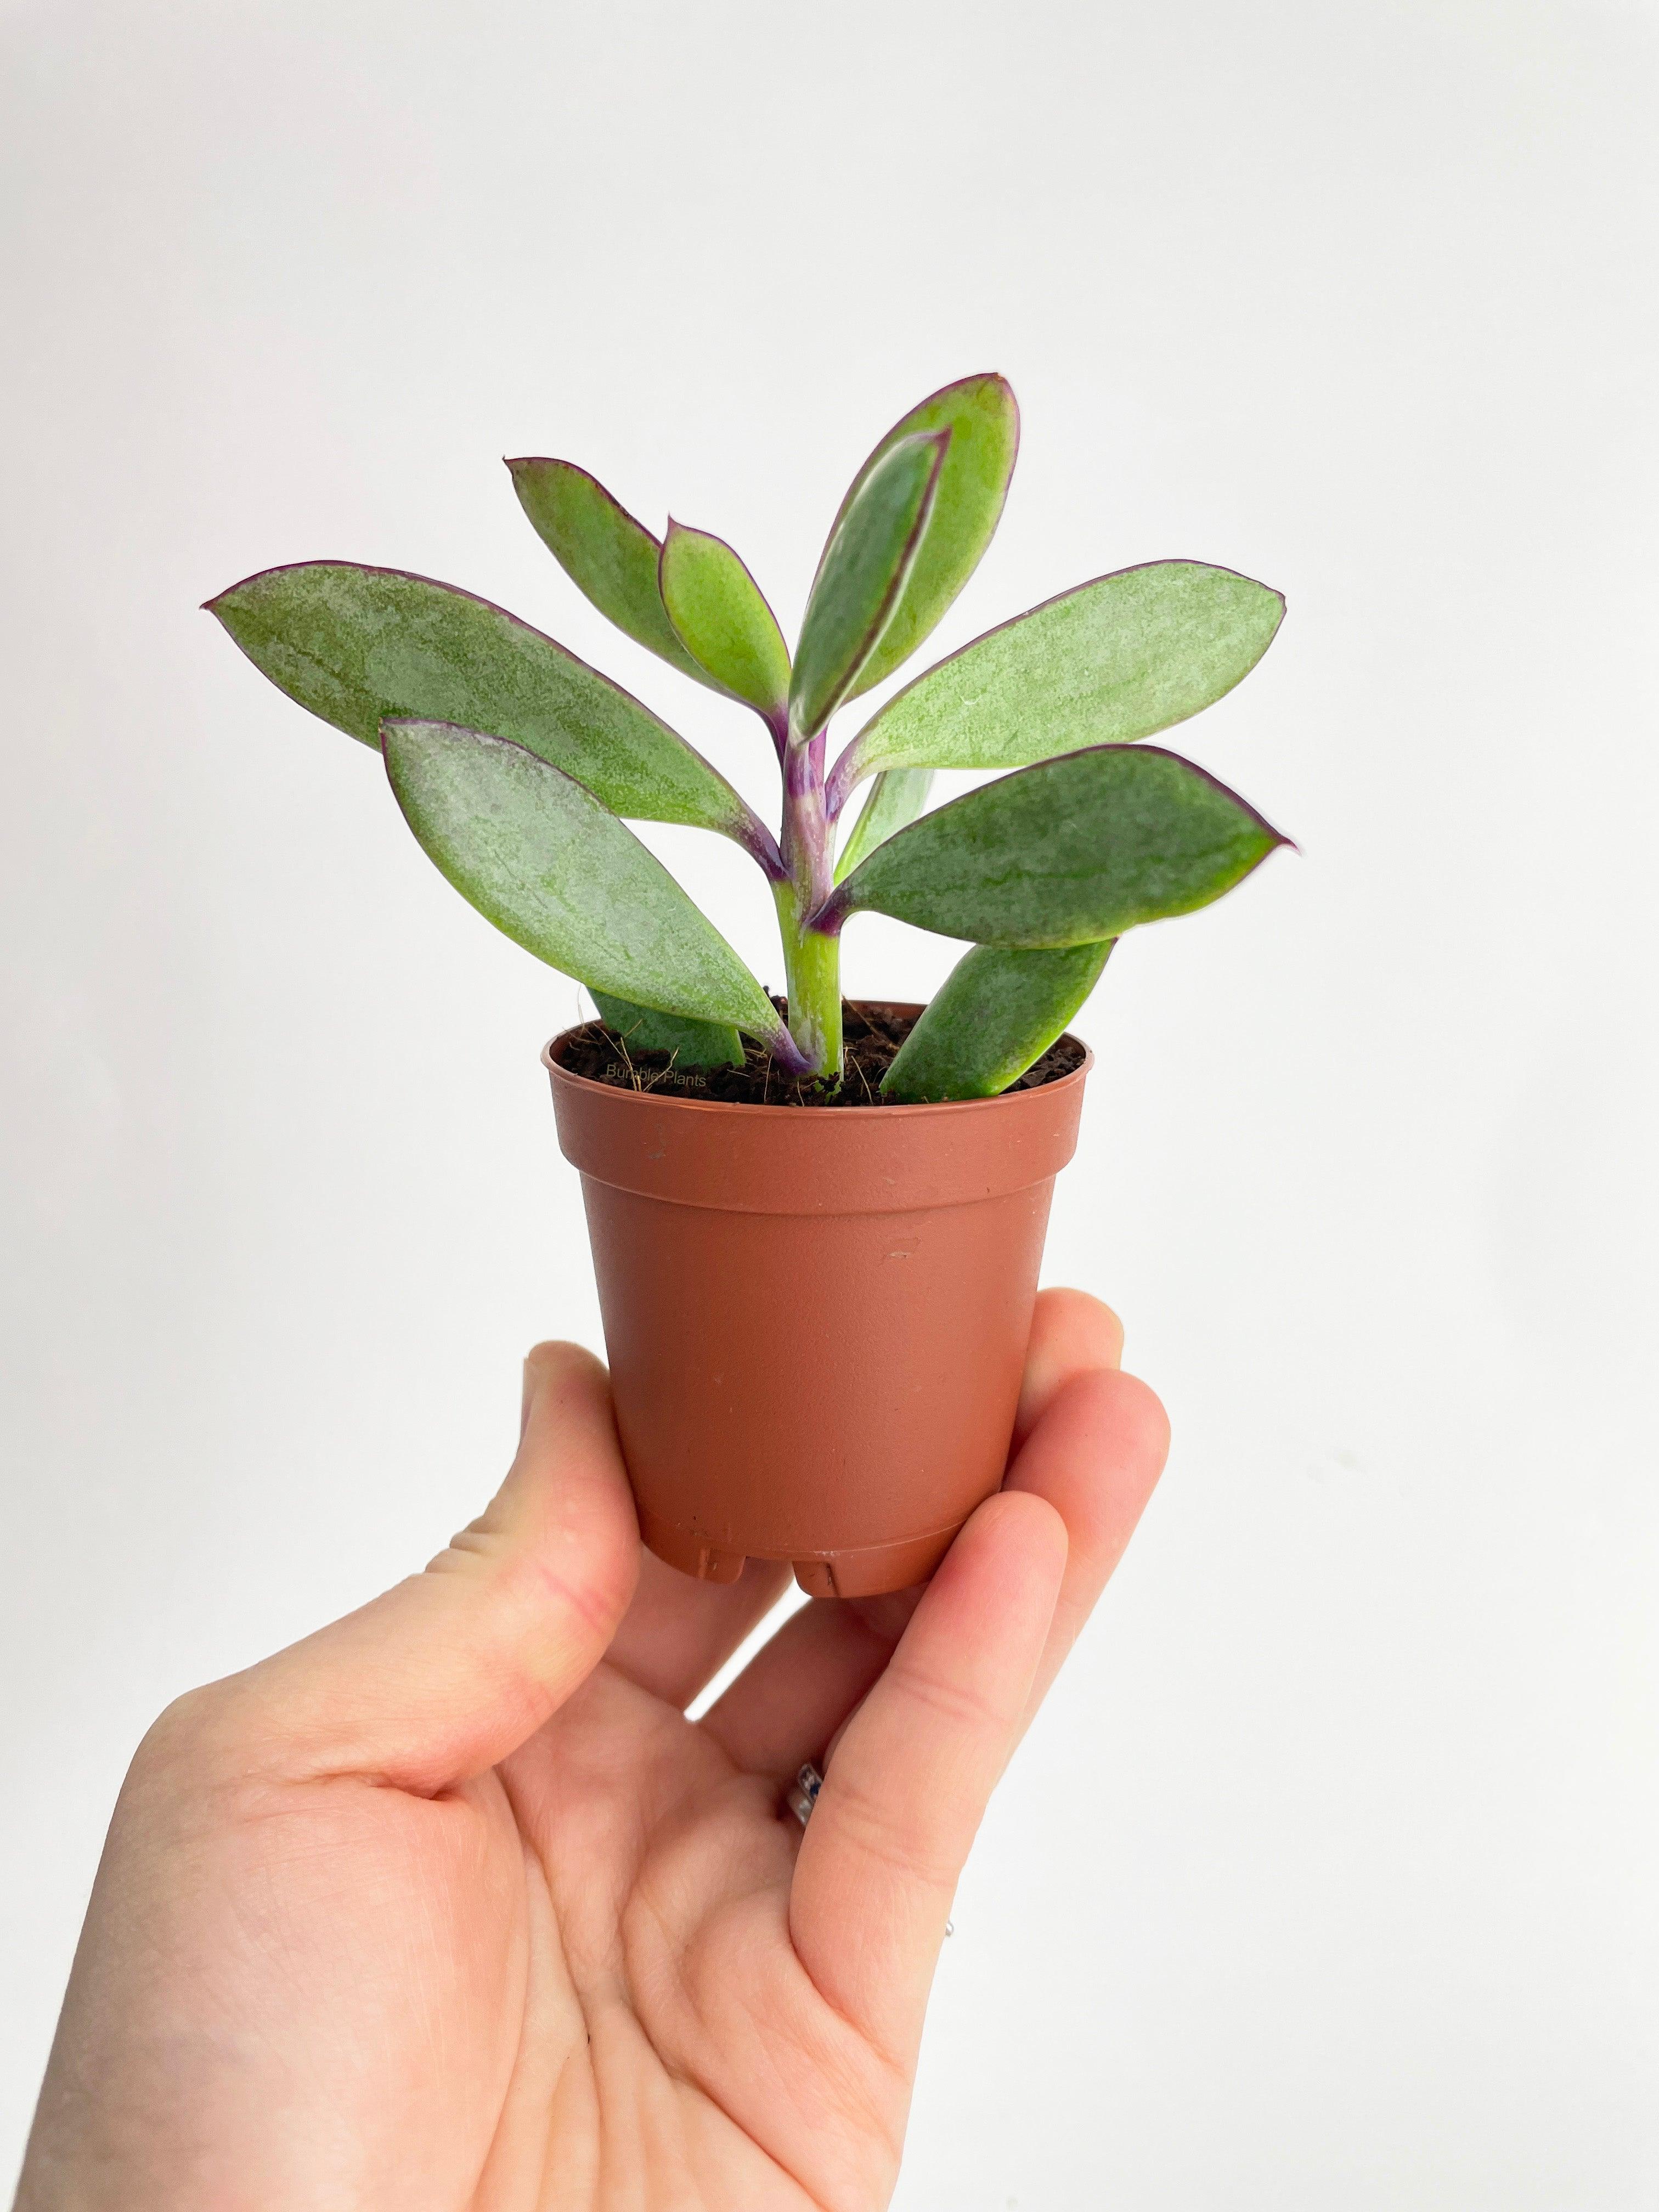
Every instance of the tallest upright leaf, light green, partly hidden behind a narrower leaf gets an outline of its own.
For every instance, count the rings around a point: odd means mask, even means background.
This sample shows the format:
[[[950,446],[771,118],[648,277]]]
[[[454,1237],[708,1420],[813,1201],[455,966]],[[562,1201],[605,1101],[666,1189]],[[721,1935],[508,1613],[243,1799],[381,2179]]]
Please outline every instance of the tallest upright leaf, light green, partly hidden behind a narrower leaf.
[[[852,489],[841,502],[841,515],[845,515],[876,462],[900,438],[911,438],[916,431],[927,429],[947,429],[951,434],[933,513],[898,606],[880,635],[880,644],[865,661],[858,681],[847,692],[849,699],[880,684],[900,661],[911,657],[980,566],[980,557],[1002,520],[1013,458],[1020,451],[1020,409],[1015,407],[1013,389],[1002,376],[964,376],[960,383],[933,392],[920,407],[911,407],[902,422],[894,422],[858,476],[854,476]],[[836,522],[841,522],[841,515],[836,515]]]

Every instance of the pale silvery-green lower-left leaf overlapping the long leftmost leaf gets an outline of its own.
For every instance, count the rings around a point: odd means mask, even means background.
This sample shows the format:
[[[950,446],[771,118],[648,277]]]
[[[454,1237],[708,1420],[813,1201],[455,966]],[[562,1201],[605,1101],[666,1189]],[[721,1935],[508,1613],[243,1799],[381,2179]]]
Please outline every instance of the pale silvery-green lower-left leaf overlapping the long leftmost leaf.
[[[779,1037],[726,938],[573,776],[447,721],[387,721],[383,745],[422,852],[515,945],[591,991]]]

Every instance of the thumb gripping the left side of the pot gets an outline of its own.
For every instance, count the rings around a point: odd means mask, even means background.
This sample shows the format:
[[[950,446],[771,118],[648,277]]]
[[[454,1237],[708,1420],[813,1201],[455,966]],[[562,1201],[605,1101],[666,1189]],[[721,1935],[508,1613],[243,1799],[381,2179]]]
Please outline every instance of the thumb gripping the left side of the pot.
[[[219,1719],[285,1778],[431,1796],[535,1734],[604,1657],[637,1575],[604,1367],[538,1345],[518,1458],[482,1517],[422,1575],[223,1683]]]

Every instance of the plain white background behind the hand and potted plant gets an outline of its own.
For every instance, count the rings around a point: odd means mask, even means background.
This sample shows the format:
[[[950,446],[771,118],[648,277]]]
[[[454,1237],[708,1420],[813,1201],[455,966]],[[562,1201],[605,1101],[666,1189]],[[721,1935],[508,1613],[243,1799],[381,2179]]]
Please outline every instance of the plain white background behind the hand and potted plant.
[[[953,646],[1194,555],[1290,619],[1177,741],[1301,841],[1144,931],[1048,1279],[1175,1458],[958,1902],[905,2212],[1659,2201],[1655,18],[1613,0],[11,0],[0,2185],[177,1690],[489,1495],[597,1343],[575,987],[197,602],[341,555],[606,633],[502,453],[785,624],[1000,367]],[[653,834],[776,982],[730,847]],[[953,949],[849,936],[854,991]]]

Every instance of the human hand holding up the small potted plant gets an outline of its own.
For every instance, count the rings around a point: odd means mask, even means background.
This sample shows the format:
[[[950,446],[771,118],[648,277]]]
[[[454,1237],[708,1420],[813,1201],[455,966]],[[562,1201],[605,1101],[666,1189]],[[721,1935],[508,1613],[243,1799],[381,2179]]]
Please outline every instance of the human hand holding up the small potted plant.
[[[1046,1292],[927,1590],[807,1604],[697,1723],[787,1568],[641,1553],[604,1369],[533,1352],[482,1520],[139,1747],[18,2212],[885,2205],[973,1832],[1164,1464],[1119,1343]]]

